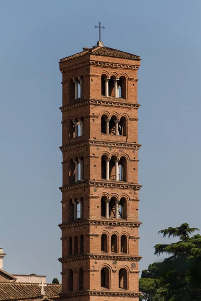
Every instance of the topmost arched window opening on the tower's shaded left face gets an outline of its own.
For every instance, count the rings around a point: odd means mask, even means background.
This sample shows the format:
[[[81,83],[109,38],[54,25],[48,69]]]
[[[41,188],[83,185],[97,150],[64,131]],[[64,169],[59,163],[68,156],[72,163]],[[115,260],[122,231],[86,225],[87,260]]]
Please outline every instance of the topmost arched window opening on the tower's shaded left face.
[[[83,76],[75,77],[69,81],[69,100],[83,98]]]

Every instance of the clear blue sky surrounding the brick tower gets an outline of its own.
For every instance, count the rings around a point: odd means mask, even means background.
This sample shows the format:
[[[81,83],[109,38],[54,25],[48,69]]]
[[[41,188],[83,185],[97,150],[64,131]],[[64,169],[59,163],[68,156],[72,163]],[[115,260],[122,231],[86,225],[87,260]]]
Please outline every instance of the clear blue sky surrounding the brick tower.
[[[10,273],[60,278],[60,58],[104,45],[140,55],[140,269],[157,232],[200,228],[200,11],[193,0],[0,2],[0,247]]]

